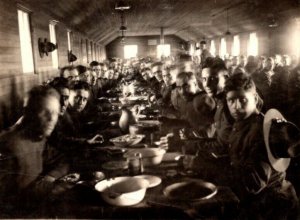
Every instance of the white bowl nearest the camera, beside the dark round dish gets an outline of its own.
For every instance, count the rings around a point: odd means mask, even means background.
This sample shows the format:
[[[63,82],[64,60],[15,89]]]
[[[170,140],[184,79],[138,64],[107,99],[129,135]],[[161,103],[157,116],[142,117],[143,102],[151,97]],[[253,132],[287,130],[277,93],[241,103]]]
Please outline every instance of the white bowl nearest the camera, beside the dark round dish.
[[[116,177],[95,185],[102,199],[115,206],[132,206],[140,203],[146,194],[149,181],[136,177]]]

